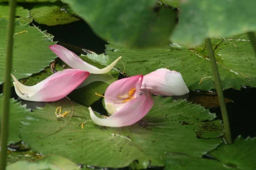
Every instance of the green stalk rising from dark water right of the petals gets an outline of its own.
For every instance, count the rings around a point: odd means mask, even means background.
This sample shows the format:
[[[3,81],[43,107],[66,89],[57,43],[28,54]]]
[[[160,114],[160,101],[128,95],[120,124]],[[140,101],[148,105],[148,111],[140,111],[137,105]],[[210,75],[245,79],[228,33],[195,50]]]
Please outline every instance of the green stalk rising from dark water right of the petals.
[[[231,137],[230,124],[229,124],[229,119],[228,119],[228,114],[227,114],[227,108],[226,108],[226,103],[224,101],[223,91],[221,88],[220,75],[218,73],[218,68],[217,68],[217,64],[215,61],[214,52],[212,50],[212,43],[209,38],[206,39],[205,43],[206,43],[206,48],[207,48],[207,51],[209,54],[209,58],[210,58],[211,66],[212,66],[213,78],[214,78],[215,86],[217,89],[219,104],[221,107],[221,115],[222,115],[222,119],[223,119],[223,123],[224,123],[225,138],[226,138],[226,141],[229,144],[231,144],[232,137]]]

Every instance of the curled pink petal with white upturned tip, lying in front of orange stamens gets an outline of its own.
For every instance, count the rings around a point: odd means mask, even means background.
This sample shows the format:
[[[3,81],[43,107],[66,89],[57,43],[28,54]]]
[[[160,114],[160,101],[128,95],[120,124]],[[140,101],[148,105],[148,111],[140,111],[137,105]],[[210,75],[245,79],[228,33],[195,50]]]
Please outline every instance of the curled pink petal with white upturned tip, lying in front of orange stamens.
[[[93,122],[100,126],[123,127],[133,125],[142,119],[152,108],[153,99],[150,93],[140,95],[136,99],[131,100],[122,109],[106,119],[97,117],[92,108],[89,107],[90,117]]]

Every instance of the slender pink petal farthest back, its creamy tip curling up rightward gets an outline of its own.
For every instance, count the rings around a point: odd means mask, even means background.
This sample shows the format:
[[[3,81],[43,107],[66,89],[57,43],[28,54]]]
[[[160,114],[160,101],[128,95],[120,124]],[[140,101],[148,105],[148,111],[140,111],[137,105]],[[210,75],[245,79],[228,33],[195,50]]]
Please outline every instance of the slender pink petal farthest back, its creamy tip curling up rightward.
[[[84,62],[75,53],[73,53],[72,51],[69,51],[67,48],[61,45],[50,45],[49,48],[71,68],[88,71],[91,74],[108,73],[116,65],[119,59],[121,59],[121,57],[119,57],[107,67],[99,69],[93,65],[88,64],[87,62]]]

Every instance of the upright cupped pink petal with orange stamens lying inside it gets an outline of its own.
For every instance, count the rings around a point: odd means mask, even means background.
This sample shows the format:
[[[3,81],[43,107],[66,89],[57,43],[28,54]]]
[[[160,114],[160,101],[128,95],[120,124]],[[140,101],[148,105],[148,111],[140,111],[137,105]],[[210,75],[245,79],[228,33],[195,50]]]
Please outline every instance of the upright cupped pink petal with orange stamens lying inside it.
[[[119,79],[113,82],[105,91],[105,108],[108,113],[113,114],[115,111],[119,111],[122,107],[130,102],[124,102],[129,97],[136,98],[140,96],[140,87],[142,84],[143,75],[137,75],[124,79]],[[133,90],[133,93],[129,95],[129,91]],[[133,100],[133,99],[132,99]]]

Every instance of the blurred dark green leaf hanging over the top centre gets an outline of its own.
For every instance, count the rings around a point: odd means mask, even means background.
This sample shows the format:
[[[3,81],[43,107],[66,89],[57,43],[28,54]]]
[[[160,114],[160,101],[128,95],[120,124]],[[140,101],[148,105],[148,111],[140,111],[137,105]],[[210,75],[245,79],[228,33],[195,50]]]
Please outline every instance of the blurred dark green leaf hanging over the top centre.
[[[172,8],[156,0],[62,0],[105,40],[143,48],[169,44],[176,22]]]

